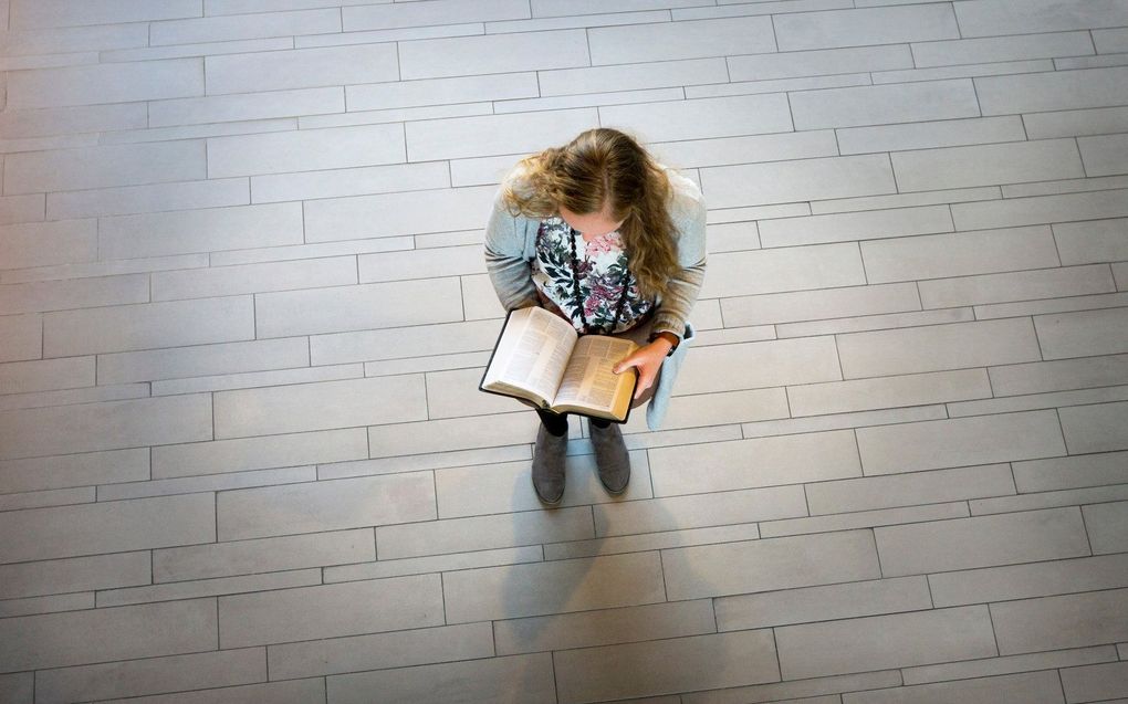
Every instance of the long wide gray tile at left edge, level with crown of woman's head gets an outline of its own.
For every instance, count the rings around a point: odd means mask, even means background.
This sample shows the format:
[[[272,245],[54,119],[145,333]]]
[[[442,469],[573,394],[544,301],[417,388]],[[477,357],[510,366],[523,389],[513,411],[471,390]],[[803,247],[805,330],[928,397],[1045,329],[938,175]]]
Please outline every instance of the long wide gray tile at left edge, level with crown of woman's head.
[[[199,141],[8,154],[3,167],[8,195],[187,181],[206,176],[204,145]]]

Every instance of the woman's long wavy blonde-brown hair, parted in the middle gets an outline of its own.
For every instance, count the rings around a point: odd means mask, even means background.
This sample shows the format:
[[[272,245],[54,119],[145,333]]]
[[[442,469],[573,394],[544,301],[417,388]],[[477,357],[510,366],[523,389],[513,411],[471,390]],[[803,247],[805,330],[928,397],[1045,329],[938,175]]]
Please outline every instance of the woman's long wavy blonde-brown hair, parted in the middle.
[[[631,136],[607,127],[588,130],[564,146],[521,160],[521,179],[508,179],[504,199],[514,215],[549,217],[563,206],[589,215],[609,208],[622,220],[627,266],[647,298],[666,293],[678,269],[666,172]]]

